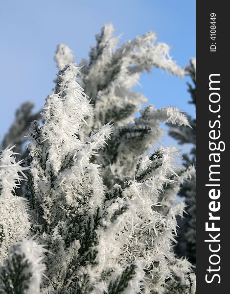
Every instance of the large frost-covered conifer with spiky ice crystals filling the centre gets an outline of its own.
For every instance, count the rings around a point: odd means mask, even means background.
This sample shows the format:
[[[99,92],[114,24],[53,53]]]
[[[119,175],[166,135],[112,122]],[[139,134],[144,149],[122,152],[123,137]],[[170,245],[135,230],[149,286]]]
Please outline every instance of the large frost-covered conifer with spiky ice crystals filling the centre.
[[[194,171],[175,167],[174,147],[146,153],[160,122],[189,123],[177,108],[153,105],[134,118],[145,98],[131,90],[152,66],[184,70],[153,33],[117,50],[112,33],[106,25],[96,37],[81,76],[76,64],[64,67],[71,51],[57,49],[56,86],[28,136],[30,229],[7,249],[1,294],[195,293],[191,264],[173,250],[185,209],[175,194]]]

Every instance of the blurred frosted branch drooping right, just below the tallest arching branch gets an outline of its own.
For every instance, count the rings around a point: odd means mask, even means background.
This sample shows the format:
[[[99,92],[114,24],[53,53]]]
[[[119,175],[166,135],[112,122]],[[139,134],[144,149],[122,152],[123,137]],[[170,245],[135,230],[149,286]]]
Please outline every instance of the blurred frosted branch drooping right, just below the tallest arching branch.
[[[102,152],[99,163],[107,167],[103,177],[108,187],[119,183],[119,178],[121,181],[131,179],[139,156],[161,138],[160,122],[189,125],[184,113],[176,107],[155,109],[149,105],[140,114],[134,123],[116,127],[111,141]]]

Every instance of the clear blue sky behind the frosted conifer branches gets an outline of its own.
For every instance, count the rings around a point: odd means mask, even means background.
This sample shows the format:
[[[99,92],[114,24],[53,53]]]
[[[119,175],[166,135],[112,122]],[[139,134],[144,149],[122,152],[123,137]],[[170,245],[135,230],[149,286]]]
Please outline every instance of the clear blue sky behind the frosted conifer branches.
[[[195,0],[1,0],[0,1],[0,136],[26,100],[35,110],[51,93],[57,72],[53,61],[59,43],[67,44],[76,61],[88,58],[94,35],[112,22],[122,41],[149,30],[172,46],[180,66],[195,57]],[[177,105],[192,116],[186,81],[153,70],[138,88],[156,107]],[[170,140],[166,140],[169,144]]]

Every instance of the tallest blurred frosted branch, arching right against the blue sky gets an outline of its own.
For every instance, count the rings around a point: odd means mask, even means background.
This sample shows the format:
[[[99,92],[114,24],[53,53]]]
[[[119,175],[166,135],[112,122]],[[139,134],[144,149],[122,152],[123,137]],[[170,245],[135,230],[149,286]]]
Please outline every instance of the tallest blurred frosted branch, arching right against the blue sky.
[[[179,76],[185,74],[170,57],[170,47],[156,43],[155,33],[138,36],[119,48],[120,36],[113,34],[113,25],[104,25],[96,35],[97,44],[92,46],[89,62],[81,62],[82,85],[94,105],[93,129],[110,121],[117,125],[133,121],[133,115],[147,101],[131,89],[143,71],[159,67]]]

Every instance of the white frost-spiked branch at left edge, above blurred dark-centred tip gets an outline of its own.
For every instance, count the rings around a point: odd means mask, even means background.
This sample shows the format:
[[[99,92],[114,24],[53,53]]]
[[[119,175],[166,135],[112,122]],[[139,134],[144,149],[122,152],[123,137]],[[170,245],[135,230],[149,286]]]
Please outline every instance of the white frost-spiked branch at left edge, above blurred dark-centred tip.
[[[28,204],[25,198],[15,195],[21,181],[25,180],[16,162],[13,147],[0,151],[0,263],[7,256],[9,247],[29,234]]]

